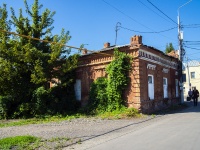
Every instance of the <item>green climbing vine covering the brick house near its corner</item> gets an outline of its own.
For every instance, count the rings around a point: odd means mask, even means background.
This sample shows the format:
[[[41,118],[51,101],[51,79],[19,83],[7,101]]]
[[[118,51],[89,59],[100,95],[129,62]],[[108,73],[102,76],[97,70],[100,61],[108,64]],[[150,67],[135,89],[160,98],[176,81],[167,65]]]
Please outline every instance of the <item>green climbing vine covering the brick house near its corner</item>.
[[[130,70],[131,57],[115,49],[114,60],[106,68],[107,78],[98,78],[91,85],[89,98],[91,112],[113,112],[124,108],[123,91],[129,83]]]

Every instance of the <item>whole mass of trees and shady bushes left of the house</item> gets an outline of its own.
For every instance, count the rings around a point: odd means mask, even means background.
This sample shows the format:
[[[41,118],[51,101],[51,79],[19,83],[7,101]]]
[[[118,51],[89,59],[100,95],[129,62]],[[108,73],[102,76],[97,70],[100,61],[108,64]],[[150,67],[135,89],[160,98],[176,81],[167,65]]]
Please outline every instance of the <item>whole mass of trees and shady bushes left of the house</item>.
[[[13,27],[17,34],[54,44],[0,32],[0,119],[74,111],[79,104],[71,87],[78,55],[70,55],[64,46],[71,36],[64,29],[60,35],[52,34],[55,12],[43,11],[39,0],[31,8],[26,0],[24,4],[26,10],[20,9],[18,15],[11,8],[10,17],[6,4],[0,7],[0,29]],[[57,86],[49,89],[50,82]]]

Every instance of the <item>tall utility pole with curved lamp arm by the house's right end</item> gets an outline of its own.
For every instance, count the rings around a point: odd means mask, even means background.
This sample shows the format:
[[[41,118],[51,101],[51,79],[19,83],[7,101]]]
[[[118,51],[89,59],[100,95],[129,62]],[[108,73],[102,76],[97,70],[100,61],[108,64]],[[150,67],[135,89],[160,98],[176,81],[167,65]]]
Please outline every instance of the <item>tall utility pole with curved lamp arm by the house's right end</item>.
[[[180,96],[181,96],[181,103],[184,102],[184,95],[183,95],[183,77],[182,77],[182,62],[183,62],[183,55],[185,54],[183,49],[183,31],[181,31],[181,24],[180,24],[180,15],[179,15],[179,9],[188,3],[190,3],[192,0],[189,0],[187,3],[181,5],[178,8],[178,41],[179,41],[179,60],[180,60]]]

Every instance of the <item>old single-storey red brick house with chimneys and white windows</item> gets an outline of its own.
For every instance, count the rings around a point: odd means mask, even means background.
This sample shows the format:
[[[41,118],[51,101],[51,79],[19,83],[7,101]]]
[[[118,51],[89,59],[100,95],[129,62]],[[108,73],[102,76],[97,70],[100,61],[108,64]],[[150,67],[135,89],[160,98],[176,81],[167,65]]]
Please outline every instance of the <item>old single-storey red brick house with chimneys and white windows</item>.
[[[114,48],[134,58],[129,75],[131,82],[124,93],[128,107],[149,113],[179,102],[178,59],[143,45],[141,36],[133,36],[128,45],[105,43],[98,52],[83,51],[75,84],[77,100],[83,105],[87,104],[91,83],[106,75],[105,67],[113,59]]]

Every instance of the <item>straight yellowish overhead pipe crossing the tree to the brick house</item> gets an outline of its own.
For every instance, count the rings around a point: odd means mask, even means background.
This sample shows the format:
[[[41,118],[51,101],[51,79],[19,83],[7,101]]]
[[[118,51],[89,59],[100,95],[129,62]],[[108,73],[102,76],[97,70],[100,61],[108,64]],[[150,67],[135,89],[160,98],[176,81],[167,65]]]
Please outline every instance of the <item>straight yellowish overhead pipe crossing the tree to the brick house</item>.
[[[84,49],[84,48],[78,48],[78,47],[75,47],[75,46],[69,46],[69,45],[66,45],[66,44],[60,44],[58,42],[52,42],[52,41],[48,41],[48,40],[42,40],[42,39],[39,39],[39,38],[34,38],[34,37],[31,37],[31,36],[23,35],[23,34],[17,34],[15,32],[9,32],[9,31],[5,31],[5,30],[2,30],[2,29],[0,29],[0,32],[4,32],[4,33],[8,33],[8,34],[12,34],[12,35],[24,37],[24,38],[31,39],[31,40],[45,42],[45,43],[49,43],[49,44],[58,44],[60,46],[64,46],[64,47],[68,47],[68,48],[73,48],[73,49],[78,49],[78,50],[81,50],[81,51],[87,50],[87,49]],[[92,53],[101,53],[101,54],[109,55],[109,56],[111,55],[111,54],[107,54],[107,53],[103,53],[103,52],[96,52],[96,51],[92,51],[92,50],[87,50],[87,51],[88,52],[92,52]]]

